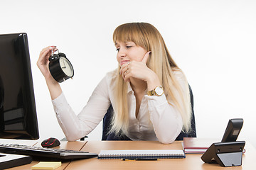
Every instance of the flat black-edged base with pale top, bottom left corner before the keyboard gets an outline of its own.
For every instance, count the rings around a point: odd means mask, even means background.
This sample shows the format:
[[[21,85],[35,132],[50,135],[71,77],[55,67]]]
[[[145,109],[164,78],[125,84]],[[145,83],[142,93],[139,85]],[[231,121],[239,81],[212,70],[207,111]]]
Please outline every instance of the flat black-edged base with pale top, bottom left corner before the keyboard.
[[[32,158],[30,156],[0,153],[0,169],[9,169],[15,166],[30,164],[31,162]]]

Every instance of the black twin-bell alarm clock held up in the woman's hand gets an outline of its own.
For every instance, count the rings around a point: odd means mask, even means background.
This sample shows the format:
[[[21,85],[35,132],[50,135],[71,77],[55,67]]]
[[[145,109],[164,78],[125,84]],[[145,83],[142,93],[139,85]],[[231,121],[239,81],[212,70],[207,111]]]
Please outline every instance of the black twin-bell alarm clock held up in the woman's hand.
[[[58,54],[54,54],[52,50],[52,55],[50,55],[49,61],[50,74],[55,81],[61,83],[69,78],[72,79],[74,76],[74,69],[64,53],[58,51]]]

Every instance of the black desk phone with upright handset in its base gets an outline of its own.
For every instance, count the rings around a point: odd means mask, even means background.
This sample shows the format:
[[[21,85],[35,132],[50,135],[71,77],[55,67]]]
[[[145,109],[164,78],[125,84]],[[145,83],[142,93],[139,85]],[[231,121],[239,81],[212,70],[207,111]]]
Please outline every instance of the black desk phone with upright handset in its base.
[[[206,163],[218,163],[220,166],[242,165],[242,151],[245,141],[236,141],[242,129],[243,119],[230,119],[221,142],[213,143],[201,159]]]

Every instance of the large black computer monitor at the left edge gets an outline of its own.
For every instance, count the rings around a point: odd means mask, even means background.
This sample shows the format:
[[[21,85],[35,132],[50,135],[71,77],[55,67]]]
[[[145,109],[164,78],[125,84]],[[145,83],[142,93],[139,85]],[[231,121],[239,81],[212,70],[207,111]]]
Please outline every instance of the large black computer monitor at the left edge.
[[[39,138],[26,33],[0,35],[0,138]]]

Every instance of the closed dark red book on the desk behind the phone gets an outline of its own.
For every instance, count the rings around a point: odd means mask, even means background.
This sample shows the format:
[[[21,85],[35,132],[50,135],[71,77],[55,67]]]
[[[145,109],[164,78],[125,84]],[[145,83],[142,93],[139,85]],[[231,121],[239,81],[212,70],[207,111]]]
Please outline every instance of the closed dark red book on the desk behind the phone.
[[[212,138],[184,137],[182,146],[185,154],[204,154],[208,147],[215,142],[220,142],[220,140]],[[245,149],[243,149],[242,153],[245,153]]]

